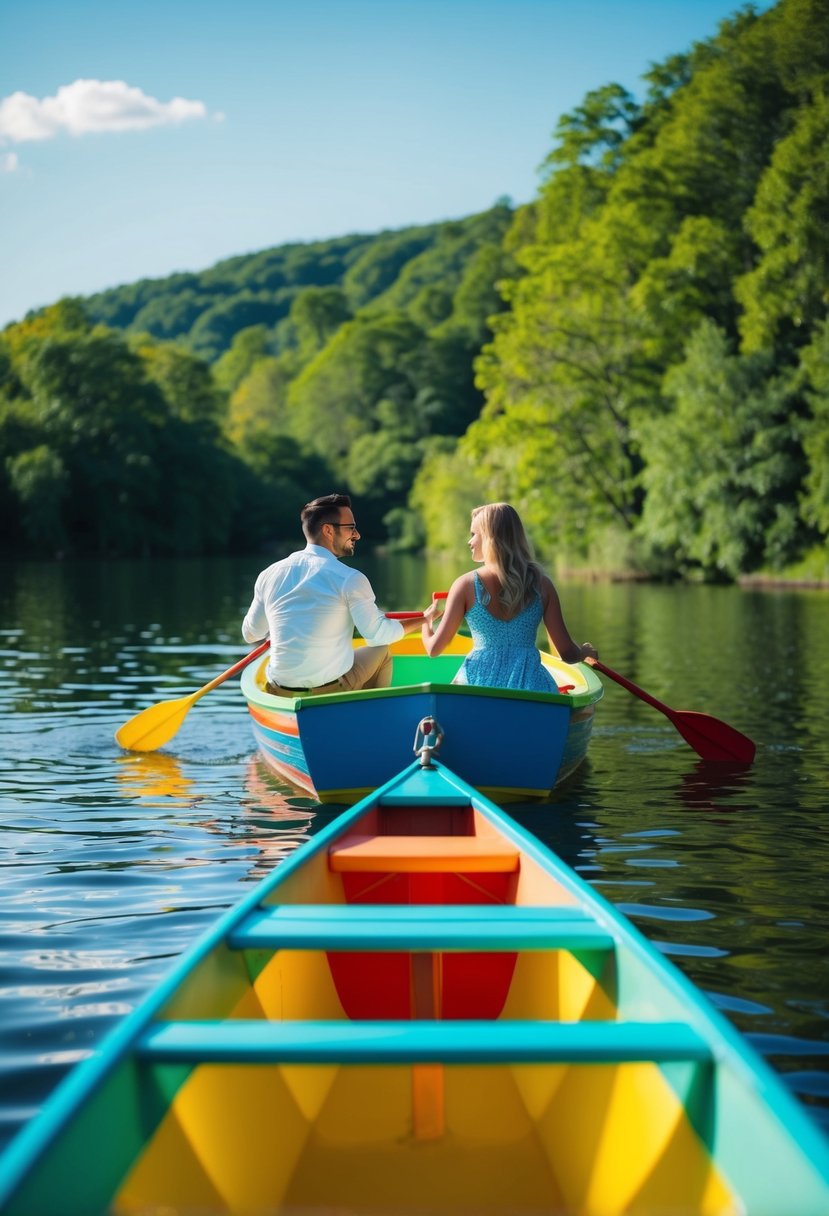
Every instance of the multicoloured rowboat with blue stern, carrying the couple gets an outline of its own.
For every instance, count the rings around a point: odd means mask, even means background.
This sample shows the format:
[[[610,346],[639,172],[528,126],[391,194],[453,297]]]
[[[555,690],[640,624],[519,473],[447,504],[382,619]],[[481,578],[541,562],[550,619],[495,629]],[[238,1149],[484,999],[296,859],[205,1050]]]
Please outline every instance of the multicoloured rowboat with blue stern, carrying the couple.
[[[322,803],[355,803],[408,764],[412,722],[435,716],[446,730],[445,762],[497,803],[546,798],[587,754],[602,682],[583,664],[541,652],[559,693],[453,685],[472,643],[429,658],[418,637],[391,647],[389,688],[321,697],[273,697],[265,665],[242,675],[253,733],[267,764]]]

